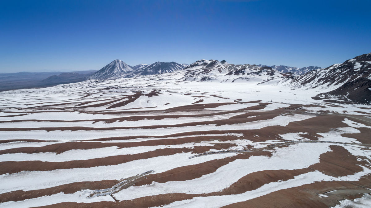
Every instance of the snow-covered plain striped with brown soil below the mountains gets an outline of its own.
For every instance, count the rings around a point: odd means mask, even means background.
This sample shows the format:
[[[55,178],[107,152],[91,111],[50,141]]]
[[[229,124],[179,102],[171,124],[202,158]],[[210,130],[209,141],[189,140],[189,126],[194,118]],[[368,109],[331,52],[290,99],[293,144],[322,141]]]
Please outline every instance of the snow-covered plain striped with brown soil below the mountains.
[[[225,65],[211,70],[212,81],[201,82],[202,74],[190,75],[197,70],[203,70],[201,65],[0,92],[0,196],[10,196],[0,207],[67,202],[125,207],[120,203],[171,194],[178,195],[154,206],[222,207],[314,182],[362,183],[371,173],[371,142],[365,138],[371,128],[368,105],[314,100],[323,89],[286,86],[277,72],[224,76]],[[323,119],[328,122],[321,123]],[[226,191],[237,189],[233,184],[249,174],[321,167],[323,155],[340,150],[347,152],[341,157],[359,162],[360,169],[338,176],[312,168],[252,190],[239,189],[238,194]],[[188,159],[217,151],[227,152]],[[79,185],[121,181],[152,170],[141,179],[143,184],[134,182],[112,197],[87,197],[95,188]],[[69,190],[71,184],[73,191],[64,193],[63,187]],[[62,191],[35,194],[58,187]],[[111,186],[98,187],[105,188]],[[27,198],[17,195],[18,190],[35,195]],[[191,199],[181,197],[190,194]]]

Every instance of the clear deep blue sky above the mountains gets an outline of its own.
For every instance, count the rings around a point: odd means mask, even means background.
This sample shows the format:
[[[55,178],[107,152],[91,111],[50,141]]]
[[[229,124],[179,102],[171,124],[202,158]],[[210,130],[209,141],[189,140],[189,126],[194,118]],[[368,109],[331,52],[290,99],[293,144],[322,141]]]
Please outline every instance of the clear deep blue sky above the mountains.
[[[327,67],[371,52],[370,0],[0,0],[0,72],[199,59]]]

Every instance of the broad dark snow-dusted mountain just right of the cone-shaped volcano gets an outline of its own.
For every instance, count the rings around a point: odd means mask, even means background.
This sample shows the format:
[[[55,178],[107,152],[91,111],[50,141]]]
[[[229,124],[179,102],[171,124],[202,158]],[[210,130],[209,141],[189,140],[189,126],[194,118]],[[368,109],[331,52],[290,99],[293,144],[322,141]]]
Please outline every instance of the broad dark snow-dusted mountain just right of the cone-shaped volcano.
[[[184,69],[185,66],[176,62],[160,62],[157,61],[153,64],[138,68],[138,70],[127,74],[125,77],[144,76],[153,74],[170,73],[176,70]]]

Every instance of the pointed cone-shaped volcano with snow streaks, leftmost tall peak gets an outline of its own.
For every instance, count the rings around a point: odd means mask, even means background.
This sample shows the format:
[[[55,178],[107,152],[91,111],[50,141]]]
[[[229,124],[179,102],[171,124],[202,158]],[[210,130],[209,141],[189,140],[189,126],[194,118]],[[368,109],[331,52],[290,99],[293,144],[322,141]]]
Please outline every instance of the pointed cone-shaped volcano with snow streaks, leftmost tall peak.
[[[116,79],[132,73],[133,71],[135,71],[133,67],[129,66],[124,61],[116,59],[107,64],[101,70],[94,73],[92,76],[89,77],[89,79]]]

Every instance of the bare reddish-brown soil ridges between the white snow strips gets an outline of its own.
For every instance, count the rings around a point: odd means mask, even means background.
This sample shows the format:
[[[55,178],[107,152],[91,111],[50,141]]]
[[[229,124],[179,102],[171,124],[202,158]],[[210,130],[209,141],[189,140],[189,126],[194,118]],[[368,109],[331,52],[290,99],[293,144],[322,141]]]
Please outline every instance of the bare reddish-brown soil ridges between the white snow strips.
[[[122,101],[126,97],[114,97],[112,99],[106,99],[108,102],[101,103],[101,104],[92,104],[91,101],[87,101],[84,103],[79,104],[88,105],[90,107],[98,107],[109,105],[115,103],[110,106],[110,108],[121,107],[126,104],[127,102],[131,103],[138,99],[140,96],[157,96],[159,92],[152,91],[151,93],[143,95],[142,93],[135,93],[134,95],[130,95],[127,98],[129,100]],[[218,98],[223,98],[218,95],[211,95]],[[197,98],[195,98],[197,99]],[[104,100],[102,100],[104,101]],[[198,100],[197,102],[201,102],[203,100]],[[238,101],[238,100],[237,100]],[[126,103],[125,103],[126,102]],[[122,111],[122,112],[101,112],[101,114],[124,114],[129,115],[129,117],[119,117],[119,118],[112,118],[112,119],[100,119],[100,120],[80,120],[80,121],[104,121],[105,123],[113,123],[113,122],[121,122],[121,121],[139,121],[139,120],[161,120],[164,118],[185,118],[185,117],[204,117],[204,116],[212,116],[212,115],[224,115],[227,113],[237,113],[242,112],[240,115],[235,115],[233,117],[221,120],[214,120],[214,121],[202,121],[202,122],[191,122],[191,123],[182,123],[182,124],[172,124],[172,125],[152,125],[152,126],[144,126],[144,127],[113,127],[113,128],[88,128],[88,127],[53,127],[53,128],[0,128],[1,131],[27,131],[27,130],[46,130],[46,131],[55,131],[55,130],[113,130],[113,129],[139,129],[146,128],[146,129],[156,129],[156,128],[181,128],[181,127],[193,127],[196,125],[230,125],[230,124],[242,124],[254,121],[264,121],[270,120],[280,115],[292,115],[292,114],[307,114],[309,111],[302,110],[302,105],[295,105],[291,104],[289,107],[279,108],[277,110],[270,110],[270,111],[254,111],[254,110],[262,110],[265,109],[267,105],[272,103],[261,103],[261,101],[251,101],[251,102],[239,102],[239,103],[257,103],[255,106],[242,108],[236,111],[204,111],[205,114],[202,114],[204,108],[214,108],[221,105],[227,104],[235,104],[235,103],[212,103],[212,104],[197,104],[195,102],[191,105],[185,105],[181,107],[169,108],[164,111],[157,111],[157,110],[148,110],[145,112],[153,112],[155,115],[151,116],[136,116],[135,113],[142,113],[143,111]],[[334,103],[334,102],[331,102]],[[62,104],[56,104],[62,105]],[[49,105],[51,106],[51,105]],[[53,105],[54,106],[54,105]],[[112,107],[113,106],[113,107]],[[307,105],[307,107],[311,107],[314,105]],[[85,106],[87,107],[87,106]],[[22,147],[22,148],[12,148],[1,150],[0,154],[10,154],[10,153],[37,153],[37,152],[56,152],[57,154],[61,152],[66,152],[68,150],[78,150],[78,149],[93,149],[93,148],[103,148],[103,147],[118,147],[118,148],[127,148],[127,147],[138,147],[138,146],[152,146],[152,145],[179,145],[188,142],[196,142],[199,143],[201,141],[228,141],[226,143],[213,143],[214,146],[198,146],[194,148],[164,148],[158,149],[150,152],[144,152],[139,154],[133,155],[117,155],[117,156],[109,156],[104,158],[95,158],[90,160],[76,160],[73,161],[66,161],[66,162],[42,162],[42,161],[5,161],[0,162],[0,174],[5,173],[17,173],[20,171],[48,171],[48,170],[57,170],[57,169],[69,169],[69,168],[89,168],[89,167],[96,167],[96,166],[106,166],[106,165],[116,165],[122,164],[129,161],[140,160],[145,158],[152,158],[158,157],[162,155],[172,155],[182,152],[192,152],[194,154],[201,154],[208,151],[217,151],[217,150],[226,150],[230,147],[236,146],[235,144],[231,143],[234,140],[249,140],[253,142],[265,142],[267,140],[281,140],[281,134],[286,133],[298,133],[303,138],[307,138],[309,140],[318,140],[318,138],[322,137],[318,133],[324,133],[332,131],[336,128],[341,127],[348,127],[346,123],[344,123],[344,119],[348,118],[351,121],[361,123],[364,125],[369,126],[370,122],[367,120],[366,115],[341,115],[341,114],[326,114],[326,107],[321,105],[316,105],[316,107],[323,107],[324,113],[321,115],[317,115],[315,117],[302,120],[291,122],[286,126],[268,126],[260,129],[255,130],[214,130],[214,131],[190,131],[178,134],[171,134],[165,136],[131,136],[131,137],[113,137],[113,138],[99,138],[94,139],[91,141],[95,142],[88,142],[88,141],[74,141],[74,142],[65,142],[62,144],[52,144],[46,145],[43,147]],[[341,106],[336,106],[341,107]],[[194,112],[196,115],[177,115],[177,111],[190,111]],[[368,110],[368,109],[364,109]],[[198,113],[200,111],[200,113]],[[133,113],[135,112],[135,113]],[[208,112],[208,113],[207,113]],[[216,112],[216,113],[210,113]],[[358,112],[358,111],[357,111]],[[359,111],[361,112],[361,111]],[[362,111],[363,112],[363,111]],[[33,112],[36,113],[36,112]],[[85,112],[84,112],[85,113]],[[89,113],[89,112],[86,112]],[[92,114],[97,114],[99,112],[92,112]],[[134,115],[133,115],[134,114]],[[157,115],[158,114],[158,115]],[[14,117],[13,121],[2,121],[2,122],[19,122],[21,120],[16,120]],[[40,121],[40,120],[23,120],[23,121]],[[0,123],[2,123],[0,122]],[[60,122],[60,121],[56,121]],[[75,121],[62,121],[62,122],[75,122]],[[371,130],[370,128],[360,127],[357,128],[360,132],[355,134],[342,134],[343,137],[354,138],[359,142],[364,144],[370,144],[370,135]],[[242,136],[236,136],[233,134],[242,134]],[[223,136],[204,136],[205,134],[226,134]],[[201,136],[194,136],[194,135],[201,135]],[[189,136],[189,137],[183,137]],[[169,138],[169,137],[182,137],[182,138]],[[159,138],[158,140],[148,140],[148,141],[141,141],[141,142],[110,142],[110,143],[102,143],[99,141],[108,141],[108,140],[132,140],[135,138]],[[24,142],[45,142],[42,140],[1,140],[0,143],[9,143],[14,141],[24,141]],[[212,143],[212,142],[211,142]],[[246,148],[250,148],[252,146],[248,146]],[[283,148],[276,147],[276,148]],[[287,147],[287,146],[286,146]],[[75,202],[63,202],[59,204],[53,204],[47,207],[154,207],[154,206],[162,206],[166,204],[170,204],[174,201],[180,201],[184,199],[192,199],[194,197],[207,197],[213,195],[231,195],[231,194],[241,194],[246,191],[252,191],[259,187],[262,187],[265,184],[270,182],[278,182],[278,181],[286,181],[294,178],[297,175],[305,174],[312,171],[320,171],[323,174],[330,175],[332,177],[342,177],[346,175],[351,175],[356,172],[362,171],[362,167],[368,167],[370,164],[367,158],[354,156],[351,155],[350,152],[347,151],[345,146],[341,144],[334,144],[329,146],[331,151],[325,152],[321,154],[319,157],[319,162],[313,164],[309,167],[305,167],[299,170],[265,170],[265,171],[258,171],[252,172],[250,174],[246,174],[238,181],[234,182],[229,187],[211,193],[205,194],[182,194],[182,193],[173,193],[173,194],[161,194],[161,195],[154,195],[154,196],[147,196],[141,197],[133,200],[128,201],[117,201],[117,202],[95,202],[95,203],[75,203]],[[369,146],[364,145],[361,147],[363,150],[369,150]],[[204,175],[213,173],[217,171],[218,168],[223,167],[224,165],[232,162],[234,160],[244,160],[252,156],[257,155],[265,155],[267,157],[271,157],[273,151],[272,148],[269,151],[256,151],[256,152],[244,152],[239,153],[234,156],[222,158],[219,160],[211,160],[207,162],[203,162],[200,164],[195,165],[188,165],[183,167],[174,168],[172,170],[168,170],[165,172],[154,172],[153,174],[149,174],[146,177],[143,177],[141,180],[135,181],[133,186],[138,187],[141,185],[149,185],[152,182],[158,183],[165,183],[168,181],[186,181],[186,180],[193,180],[196,178],[200,178]],[[188,159],[187,159],[188,160]],[[311,184],[301,185],[299,187],[293,187],[288,189],[282,189],[279,191],[271,192],[269,194],[263,195],[261,197],[257,197],[254,199],[250,199],[243,202],[237,202],[226,207],[331,207],[336,205],[339,200],[348,198],[354,199],[360,197],[359,194],[356,193],[357,189],[365,189],[371,188],[371,176],[366,175],[362,177],[358,181],[319,181],[314,182]],[[341,180],[341,178],[339,179]],[[65,184],[60,185],[57,187],[52,188],[45,188],[40,190],[32,190],[32,191],[22,191],[16,190],[12,192],[7,192],[0,194],[0,202],[6,201],[19,201],[24,199],[31,199],[37,198],[45,195],[53,195],[59,192],[63,192],[65,194],[74,193],[76,191],[82,189],[104,189],[110,188],[115,185],[118,181],[116,180],[108,180],[108,181],[85,181],[85,182],[76,182],[72,184]],[[334,194],[329,197],[318,197],[317,194],[322,194],[327,191],[331,190],[349,190],[349,192],[344,191],[341,194]]]

